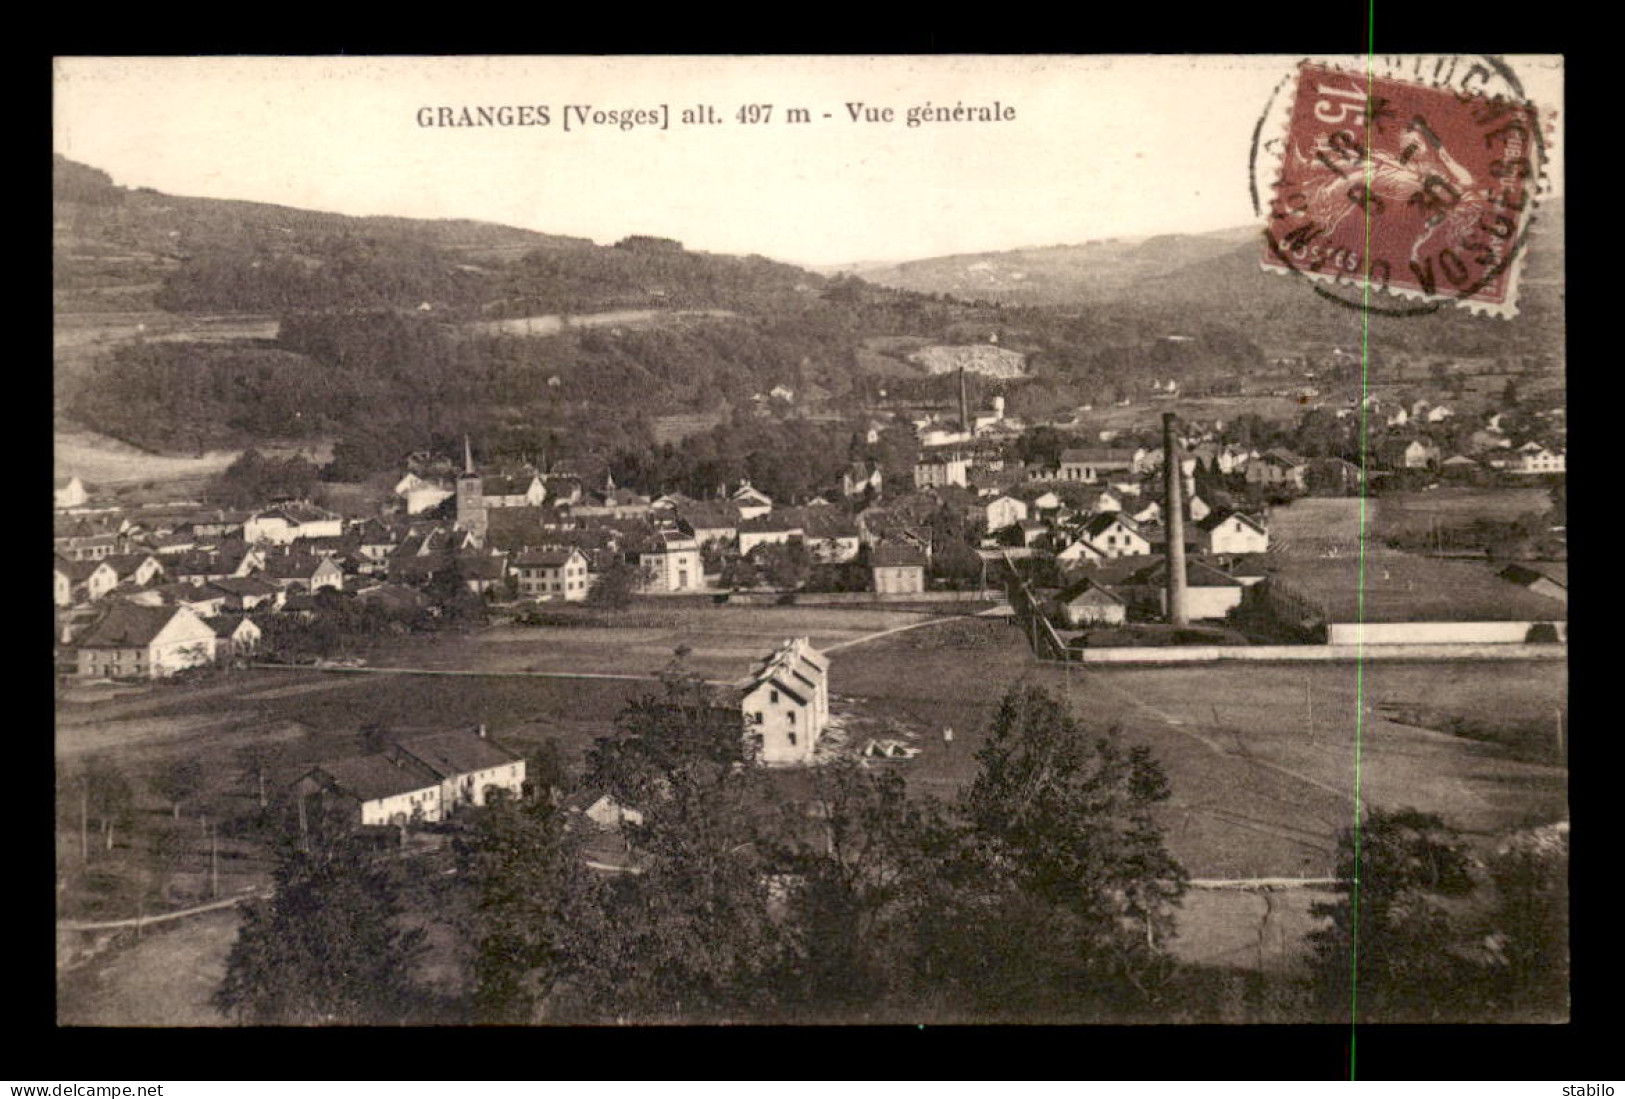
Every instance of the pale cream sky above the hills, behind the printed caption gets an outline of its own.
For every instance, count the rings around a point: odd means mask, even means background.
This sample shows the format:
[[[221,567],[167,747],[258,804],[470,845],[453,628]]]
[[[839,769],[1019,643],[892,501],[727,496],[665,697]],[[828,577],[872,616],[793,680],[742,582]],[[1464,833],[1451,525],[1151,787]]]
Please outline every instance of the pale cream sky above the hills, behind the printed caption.
[[[1253,130],[1297,60],[58,59],[54,141],[176,195],[837,265],[1251,224]],[[1560,59],[1506,62],[1562,106]],[[772,112],[741,122],[748,104]],[[895,120],[853,122],[855,104]],[[926,104],[1014,117],[908,127]],[[421,125],[481,106],[549,124]],[[665,107],[670,127],[582,127],[567,106]],[[681,122],[700,107],[722,122]]]

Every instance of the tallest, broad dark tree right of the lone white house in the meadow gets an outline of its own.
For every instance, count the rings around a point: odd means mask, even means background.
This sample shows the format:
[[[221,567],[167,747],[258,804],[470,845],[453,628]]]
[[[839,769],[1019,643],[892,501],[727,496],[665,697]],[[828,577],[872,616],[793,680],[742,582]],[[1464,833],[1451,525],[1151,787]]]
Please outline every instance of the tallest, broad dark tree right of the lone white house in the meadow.
[[[1186,883],[1152,818],[1168,798],[1162,767],[1038,688],[1004,696],[977,759],[928,961],[985,1003],[1154,1003]]]

